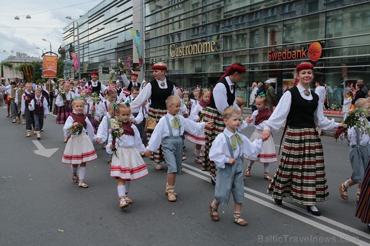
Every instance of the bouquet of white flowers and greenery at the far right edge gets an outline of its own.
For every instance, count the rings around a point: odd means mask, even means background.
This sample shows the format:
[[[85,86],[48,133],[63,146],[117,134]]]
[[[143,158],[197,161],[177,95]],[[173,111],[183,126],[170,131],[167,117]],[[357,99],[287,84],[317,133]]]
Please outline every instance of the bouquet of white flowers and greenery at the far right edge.
[[[353,127],[354,130],[358,130],[359,133],[365,134],[369,131],[369,125],[366,120],[367,112],[361,108],[355,108],[354,110],[350,111],[345,117],[343,122],[343,127],[338,128],[334,133],[335,141],[338,139],[343,140],[343,138],[347,139],[348,143],[349,140],[347,136],[348,129]]]

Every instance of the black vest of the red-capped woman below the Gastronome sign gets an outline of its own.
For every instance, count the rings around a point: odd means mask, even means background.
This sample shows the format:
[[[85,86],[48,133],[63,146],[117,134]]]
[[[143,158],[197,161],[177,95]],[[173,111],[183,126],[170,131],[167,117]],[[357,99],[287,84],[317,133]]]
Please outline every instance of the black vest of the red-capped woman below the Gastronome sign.
[[[167,107],[165,106],[165,99],[167,99],[167,97],[171,95],[173,90],[173,83],[169,80],[167,80],[166,82],[166,89],[159,88],[156,79],[153,79],[149,82],[151,84],[151,108],[167,109]]]

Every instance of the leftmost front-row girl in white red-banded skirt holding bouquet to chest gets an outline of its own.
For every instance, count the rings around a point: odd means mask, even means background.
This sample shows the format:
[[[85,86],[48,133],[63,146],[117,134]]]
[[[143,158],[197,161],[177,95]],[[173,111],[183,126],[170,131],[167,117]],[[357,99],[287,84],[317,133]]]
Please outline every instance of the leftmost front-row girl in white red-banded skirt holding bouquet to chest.
[[[92,143],[95,141],[92,125],[83,114],[85,100],[75,98],[72,101],[73,112],[68,116],[64,126],[64,136],[70,136],[68,140],[61,162],[70,164],[72,169],[72,181],[78,182],[78,187],[87,188],[88,185],[84,183],[86,162],[97,159],[96,152]],[[79,131],[78,131],[79,130]],[[77,169],[78,176],[77,176]]]

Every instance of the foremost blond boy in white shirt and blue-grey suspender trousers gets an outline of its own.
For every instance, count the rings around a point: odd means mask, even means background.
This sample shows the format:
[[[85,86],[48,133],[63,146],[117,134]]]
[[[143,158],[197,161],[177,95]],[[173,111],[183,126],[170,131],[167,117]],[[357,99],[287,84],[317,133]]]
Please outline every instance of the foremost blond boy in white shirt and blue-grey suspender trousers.
[[[236,132],[240,126],[240,110],[229,106],[222,111],[226,128],[218,134],[209,150],[209,159],[217,166],[217,182],[214,190],[214,200],[209,204],[209,215],[213,221],[218,221],[219,204],[227,205],[230,193],[234,198],[234,222],[246,226],[241,218],[241,204],[244,201],[242,180],[243,155],[256,157],[263,148],[262,140],[250,142],[247,137]]]

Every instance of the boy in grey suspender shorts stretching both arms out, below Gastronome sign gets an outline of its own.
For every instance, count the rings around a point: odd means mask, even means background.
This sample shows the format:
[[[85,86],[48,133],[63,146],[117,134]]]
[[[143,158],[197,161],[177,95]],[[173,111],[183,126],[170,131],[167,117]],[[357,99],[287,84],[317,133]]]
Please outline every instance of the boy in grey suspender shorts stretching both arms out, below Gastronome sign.
[[[181,174],[183,146],[181,135],[183,135],[184,131],[193,135],[199,135],[205,126],[211,127],[213,123],[195,123],[178,115],[181,101],[177,96],[167,97],[165,104],[168,112],[164,117],[160,118],[158,124],[155,126],[146,147],[145,156],[149,157],[150,152],[156,151],[162,142],[164,160],[168,166],[165,194],[168,201],[174,202],[177,195],[174,192],[176,173]]]

